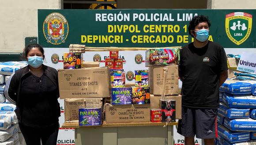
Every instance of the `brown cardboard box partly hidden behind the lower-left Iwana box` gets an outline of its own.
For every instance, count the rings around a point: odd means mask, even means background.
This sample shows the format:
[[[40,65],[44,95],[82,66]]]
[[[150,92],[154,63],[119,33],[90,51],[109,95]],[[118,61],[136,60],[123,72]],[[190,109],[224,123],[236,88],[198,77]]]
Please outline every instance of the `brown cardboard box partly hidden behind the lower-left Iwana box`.
[[[79,106],[81,105],[101,105],[102,98],[65,98],[64,99],[64,110],[65,110],[65,121],[72,122],[79,119]]]

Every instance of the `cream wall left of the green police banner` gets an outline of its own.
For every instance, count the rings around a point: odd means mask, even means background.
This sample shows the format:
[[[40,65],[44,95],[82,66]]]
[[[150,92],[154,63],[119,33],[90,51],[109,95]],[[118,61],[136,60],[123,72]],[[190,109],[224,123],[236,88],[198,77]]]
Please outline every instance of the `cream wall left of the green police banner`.
[[[0,52],[22,52],[38,36],[38,9],[60,9],[61,0],[0,0]]]

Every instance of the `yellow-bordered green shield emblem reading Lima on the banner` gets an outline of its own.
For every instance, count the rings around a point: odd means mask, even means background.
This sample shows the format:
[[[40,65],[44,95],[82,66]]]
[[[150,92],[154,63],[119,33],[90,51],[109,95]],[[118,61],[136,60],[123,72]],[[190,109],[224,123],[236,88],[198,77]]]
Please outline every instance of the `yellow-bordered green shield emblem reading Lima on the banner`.
[[[234,12],[226,15],[226,34],[229,39],[240,45],[250,36],[252,31],[252,15],[244,12]]]

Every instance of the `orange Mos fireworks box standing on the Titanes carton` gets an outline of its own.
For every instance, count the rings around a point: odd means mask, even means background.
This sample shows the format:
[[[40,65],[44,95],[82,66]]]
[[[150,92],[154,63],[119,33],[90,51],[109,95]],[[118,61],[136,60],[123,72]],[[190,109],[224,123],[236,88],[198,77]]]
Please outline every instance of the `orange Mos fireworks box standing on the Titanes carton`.
[[[81,69],[83,54],[81,53],[64,53],[63,54],[64,69]]]

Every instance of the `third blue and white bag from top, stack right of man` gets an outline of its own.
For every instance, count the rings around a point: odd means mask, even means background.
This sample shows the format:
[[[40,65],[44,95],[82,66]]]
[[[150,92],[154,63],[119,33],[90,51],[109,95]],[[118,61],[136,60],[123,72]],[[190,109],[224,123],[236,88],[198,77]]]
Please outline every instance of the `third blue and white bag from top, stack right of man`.
[[[250,109],[229,108],[223,103],[219,103],[218,113],[227,118],[250,118]]]

